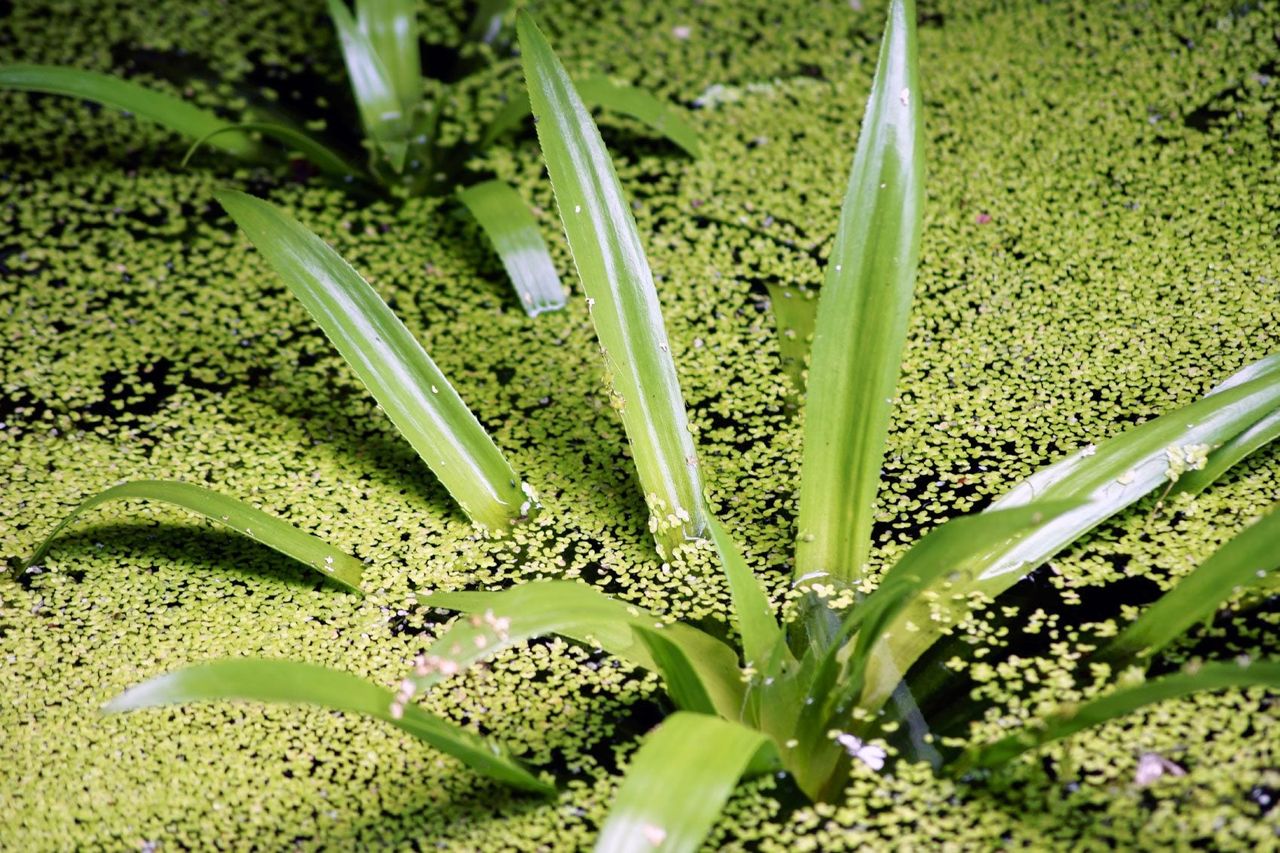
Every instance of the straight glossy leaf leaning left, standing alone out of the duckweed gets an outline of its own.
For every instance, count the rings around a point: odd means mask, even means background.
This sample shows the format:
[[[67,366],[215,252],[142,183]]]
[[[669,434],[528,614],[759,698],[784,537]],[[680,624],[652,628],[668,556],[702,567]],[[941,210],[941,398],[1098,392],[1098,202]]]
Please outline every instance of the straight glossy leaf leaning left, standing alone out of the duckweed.
[[[278,207],[230,190],[215,197],[471,520],[502,530],[525,515],[511,465],[369,282]]]

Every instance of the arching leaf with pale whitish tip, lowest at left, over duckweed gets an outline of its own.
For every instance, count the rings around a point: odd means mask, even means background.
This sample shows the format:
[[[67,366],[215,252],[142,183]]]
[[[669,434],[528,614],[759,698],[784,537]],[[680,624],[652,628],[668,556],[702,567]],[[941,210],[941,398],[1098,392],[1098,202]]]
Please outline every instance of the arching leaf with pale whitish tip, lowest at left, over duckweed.
[[[401,704],[390,690],[352,675],[314,663],[234,658],[200,663],[168,672],[129,688],[102,711],[122,713],[189,702],[243,699],[315,704],[389,722],[448,753],[468,767],[507,785],[538,794],[556,789],[534,776],[504,749],[412,702]],[[393,712],[399,708],[399,715]]]

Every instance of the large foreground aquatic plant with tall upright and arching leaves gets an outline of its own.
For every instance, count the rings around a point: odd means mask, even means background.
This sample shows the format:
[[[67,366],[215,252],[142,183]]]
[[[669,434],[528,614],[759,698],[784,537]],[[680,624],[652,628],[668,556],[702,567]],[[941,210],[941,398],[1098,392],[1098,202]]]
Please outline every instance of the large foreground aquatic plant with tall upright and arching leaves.
[[[801,505],[809,491],[809,500],[831,508],[813,514],[812,528],[800,524],[797,552],[817,543],[859,539],[858,530],[864,525],[859,516],[869,514],[870,506],[856,492],[865,488],[868,466],[878,480],[893,387],[886,374],[896,371],[901,357],[895,324],[905,323],[902,306],[913,287],[913,270],[901,264],[914,266],[918,245],[920,159],[914,145],[906,143],[919,134],[913,36],[911,4],[895,3],[837,229],[837,248],[819,300],[817,333],[833,337],[822,347],[815,341],[809,375],[810,391],[829,382],[827,391],[847,396],[844,405],[860,398],[878,411],[860,416],[855,441],[840,438],[838,433],[831,439],[835,443],[827,447],[826,456],[833,469],[831,476],[801,475]],[[676,471],[696,474],[698,460],[684,455],[684,437],[662,441],[678,432],[684,403],[678,386],[664,383],[664,377],[675,374],[635,224],[590,117],[531,19],[521,19],[520,37],[566,232],[580,273],[584,279],[591,277],[584,287],[593,300],[589,306],[605,350],[614,402],[654,512],[650,526],[663,548],[682,537],[703,534],[712,540],[732,593],[740,648],[690,625],[613,601],[585,584],[540,581],[497,593],[424,597],[425,605],[460,611],[467,619],[440,635],[394,695],[371,685],[356,688],[352,676],[308,665],[223,661],[147,681],[113,701],[110,710],[216,698],[312,702],[430,733],[435,738],[431,743],[443,743],[442,748],[483,772],[524,788],[535,789],[538,783],[545,789],[506,754],[477,756],[474,740],[462,742],[466,733],[442,729],[434,717],[430,726],[421,722],[412,697],[500,649],[532,637],[561,634],[655,671],[678,708],[632,757],[599,847],[691,849],[742,775],[781,767],[809,797],[829,800],[846,783],[852,762],[878,768],[887,758],[874,740],[879,711],[902,678],[910,679],[911,663],[977,601],[996,597],[1142,497],[1161,488],[1198,488],[1206,473],[1216,476],[1275,435],[1280,356],[1249,365],[1176,412],[1082,448],[1038,471],[986,512],[940,525],[878,581],[863,565],[865,560],[849,560],[838,546],[814,547],[805,565],[797,562],[797,613],[790,620],[787,637],[764,589],[705,498],[700,492],[680,497]],[[901,151],[910,151],[910,158],[895,156]],[[878,224],[867,227],[867,222]],[[867,257],[859,247],[884,254]],[[846,269],[841,257],[859,263]],[[893,283],[893,293],[864,292],[883,287],[886,280]],[[881,316],[881,323],[874,323],[874,316],[852,318],[872,332],[859,338],[842,332],[850,318],[832,315],[833,305],[887,305],[890,316]],[[852,364],[855,355],[867,359],[867,365]],[[622,374],[620,369],[635,373]],[[849,382],[850,371],[865,374],[873,387],[887,386],[888,391],[873,396],[849,388],[842,383]],[[626,382],[635,383],[635,391]],[[650,389],[646,382],[655,384]],[[645,405],[636,405],[636,394]],[[812,393],[810,406],[813,398]],[[813,409],[805,412],[806,453],[813,435],[823,435],[828,426],[812,424],[815,419]],[[648,459],[641,460],[641,455]],[[659,487],[667,492],[659,492]],[[664,493],[673,500],[668,502]],[[1184,587],[1175,588],[1148,611],[1153,616],[1134,622],[1132,633],[1121,635],[1124,642],[1103,649],[1102,657],[1123,665],[1148,658],[1212,612],[1243,581],[1274,567],[1268,561],[1280,551],[1274,547],[1275,517],[1268,515],[1206,561],[1184,581],[1190,584],[1185,592]],[[865,553],[864,544],[854,553],[859,549]],[[996,767],[1028,748],[1149,702],[1196,689],[1248,684],[1280,684],[1280,667],[1267,662],[1203,663],[1198,670],[1139,684],[1124,680],[1096,699],[1064,710],[1043,726],[1025,727],[993,744],[978,744],[950,770]],[[908,683],[909,689],[915,686]],[[426,734],[420,736],[428,739]],[[492,754],[498,758],[490,761]]]

